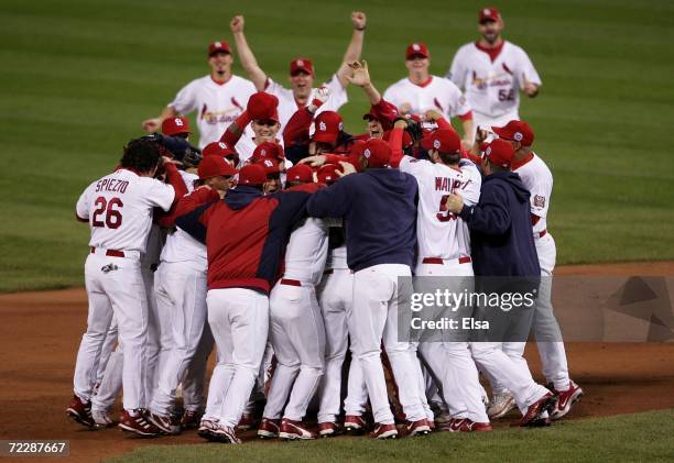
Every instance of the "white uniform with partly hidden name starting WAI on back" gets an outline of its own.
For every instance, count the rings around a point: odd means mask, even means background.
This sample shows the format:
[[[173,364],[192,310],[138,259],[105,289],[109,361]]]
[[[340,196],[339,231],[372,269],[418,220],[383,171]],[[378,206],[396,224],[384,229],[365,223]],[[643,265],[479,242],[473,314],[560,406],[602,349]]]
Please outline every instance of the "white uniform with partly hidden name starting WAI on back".
[[[457,167],[449,167],[410,156],[402,158],[399,168],[412,174],[418,184],[416,276],[467,277],[447,279],[447,284],[456,285],[457,291],[471,287],[470,232],[457,214],[447,211],[445,203],[449,194],[461,195],[469,206],[477,203],[482,184],[479,170],[465,159]],[[471,311],[470,307],[460,310],[466,316]],[[418,350],[432,376],[439,382],[452,417],[488,422],[468,339],[422,341]]]

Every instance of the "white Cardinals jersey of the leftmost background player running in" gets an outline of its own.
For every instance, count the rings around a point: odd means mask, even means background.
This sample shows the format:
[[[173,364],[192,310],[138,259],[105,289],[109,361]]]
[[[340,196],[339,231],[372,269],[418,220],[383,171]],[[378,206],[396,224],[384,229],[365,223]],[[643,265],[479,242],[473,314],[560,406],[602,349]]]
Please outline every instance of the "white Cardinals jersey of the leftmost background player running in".
[[[256,92],[256,86],[242,77],[232,75],[220,85],[208,75],[183,87],[168,106],[182,114],[196,111],[199,148],[204,148],[220,140],[229,124],[246,111],[248,99]],[[250,129],[246,135],[252,136]]]

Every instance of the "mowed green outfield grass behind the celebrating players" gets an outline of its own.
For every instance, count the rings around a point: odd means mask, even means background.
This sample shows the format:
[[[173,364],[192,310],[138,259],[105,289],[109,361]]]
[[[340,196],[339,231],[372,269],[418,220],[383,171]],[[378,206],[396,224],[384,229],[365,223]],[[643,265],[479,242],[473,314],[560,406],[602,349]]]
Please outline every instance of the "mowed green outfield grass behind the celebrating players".
[[[673,258],[674,3],[501,3],[507,38],[544,81],[521,114],[555,175],[558,263]],[[430,45],[433,71],[444,75],[457,47],[476,38],[482,5],[2,1],[0,291],[83,284],[88,230],[73,217],[78,195],[116,164],[143,119],[207,74],[206,45],[230,40],[233,14],[246,15],[259,62],[283,80],[296,55],[328,78],[350,36],[349,12],[362,9],[363,57],[384,89],[404,75],[414,40]],[[360,132],[366,100],[357,88],[349,98],[347,129]]]

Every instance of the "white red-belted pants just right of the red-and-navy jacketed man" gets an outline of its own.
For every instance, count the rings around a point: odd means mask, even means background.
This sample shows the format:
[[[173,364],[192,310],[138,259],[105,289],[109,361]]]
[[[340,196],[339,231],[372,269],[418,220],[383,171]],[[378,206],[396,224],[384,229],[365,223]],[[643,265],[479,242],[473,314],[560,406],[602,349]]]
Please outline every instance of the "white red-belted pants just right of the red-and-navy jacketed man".
[[[263,416],[276,419],[283,412],[284,418],[301,421],[323,376],[325,327],[320,307],[313,285],[284,278],[272,289],[269,306],[276,370]]]

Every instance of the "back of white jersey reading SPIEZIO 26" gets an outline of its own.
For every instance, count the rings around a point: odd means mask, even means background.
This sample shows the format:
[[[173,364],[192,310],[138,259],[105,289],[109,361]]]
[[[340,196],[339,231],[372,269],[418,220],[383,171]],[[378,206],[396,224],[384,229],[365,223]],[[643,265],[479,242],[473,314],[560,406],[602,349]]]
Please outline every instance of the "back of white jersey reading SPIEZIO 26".
[[[93,183],[77,202],[77,216],[89,219],[91,247],[145,252],[154,207],[168,210],[171,186],[120,168]]]

